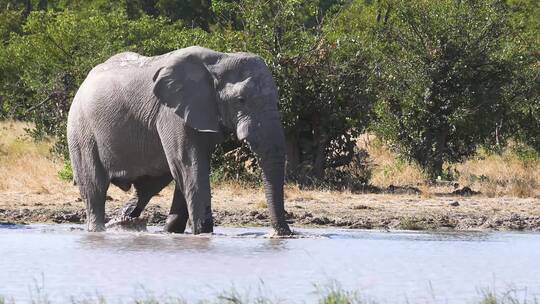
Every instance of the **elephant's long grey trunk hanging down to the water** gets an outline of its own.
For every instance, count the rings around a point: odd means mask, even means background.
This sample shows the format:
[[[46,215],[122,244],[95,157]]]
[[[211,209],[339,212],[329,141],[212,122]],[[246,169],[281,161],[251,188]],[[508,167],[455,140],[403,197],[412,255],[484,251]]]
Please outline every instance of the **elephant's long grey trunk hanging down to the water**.
[[[285,179],[285,136],[279,120],[264,126],[264,131],[250,140],[263,171],[264,190],[272,226],[278,235],[291,235],[285,221],[283,183]]]

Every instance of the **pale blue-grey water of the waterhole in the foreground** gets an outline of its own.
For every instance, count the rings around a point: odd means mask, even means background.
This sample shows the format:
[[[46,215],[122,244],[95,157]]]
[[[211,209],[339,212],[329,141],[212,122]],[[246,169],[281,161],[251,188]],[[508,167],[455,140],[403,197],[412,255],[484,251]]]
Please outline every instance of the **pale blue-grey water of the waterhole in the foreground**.
[[[195,301],[233,288],[283,302],[316,301],[339,282],[380,303],[472,303],[483,288],[540,298],[540,234],[217,228],[214,236],[91,234],[80,226],[0,226],[0,295],[54,302],[96,294]],[[521,295],[520,295],[521,296]]]

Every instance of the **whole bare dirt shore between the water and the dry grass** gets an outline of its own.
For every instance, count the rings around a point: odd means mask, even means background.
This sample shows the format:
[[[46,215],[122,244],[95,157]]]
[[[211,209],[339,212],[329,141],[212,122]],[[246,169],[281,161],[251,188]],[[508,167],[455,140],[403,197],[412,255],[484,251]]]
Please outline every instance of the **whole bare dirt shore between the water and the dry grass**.
[[[0,192],[0,223],[83,223],[84,203],[66,184],[62,193]],[[286,189],[286,209],[293,227],[341,227],[405,230],[540,231],[540,199],[483,195],[305,191]],[[129,193],[109,190],[107,217],[119,212]],[[143,217],[162,225],[172,190],[152,199]],[[218,226],[269,226],[262,189],[222,186],[213,189]]]

